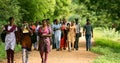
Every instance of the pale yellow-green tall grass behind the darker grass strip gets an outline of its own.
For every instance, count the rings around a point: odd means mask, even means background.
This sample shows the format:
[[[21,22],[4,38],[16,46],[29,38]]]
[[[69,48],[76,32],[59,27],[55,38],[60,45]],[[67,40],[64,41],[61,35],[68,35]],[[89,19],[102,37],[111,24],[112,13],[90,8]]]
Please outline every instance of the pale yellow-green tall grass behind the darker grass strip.
[[[95,38],[103,38],[113,41],[119,41],[120,33],[116,31],[115,28],[108,28],[108,27],[97,27],[94,29],[94,36]]]

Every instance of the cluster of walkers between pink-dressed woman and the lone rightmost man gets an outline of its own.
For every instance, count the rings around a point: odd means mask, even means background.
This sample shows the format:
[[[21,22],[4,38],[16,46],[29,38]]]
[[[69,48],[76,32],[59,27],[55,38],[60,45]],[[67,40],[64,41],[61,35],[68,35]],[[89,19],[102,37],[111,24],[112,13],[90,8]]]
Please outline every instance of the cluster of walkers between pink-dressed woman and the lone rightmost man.
[[[53,49],[56,48],[59,50],[66,50],[68,46],[68,50],[78,50],[78,40],[80,35],[80,24],[78,23],[78,19],[71,21],[71,23],[67,23],[65,19],[63,22],[59,23],[56,19],[54,20],[54,24],[52,24],[53,31]],[[77,36],[76,36],[77,35]]]

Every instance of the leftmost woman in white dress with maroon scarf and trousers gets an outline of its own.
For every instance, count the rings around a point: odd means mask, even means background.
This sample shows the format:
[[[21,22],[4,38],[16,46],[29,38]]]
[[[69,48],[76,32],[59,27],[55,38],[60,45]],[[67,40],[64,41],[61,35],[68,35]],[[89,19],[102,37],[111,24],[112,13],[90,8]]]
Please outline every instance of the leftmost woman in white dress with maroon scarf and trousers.
[[[14,48],[16,44],[16,36],[15,31],[17,31],[17,27],[14,25],[14,18],[9,18],[9,24],[4,26],[4,30],[6,32],[5,37],[5,50],[7,52],[7,63],[13,63],[14,61]],[[10,62],[11,60],[11,62]]]

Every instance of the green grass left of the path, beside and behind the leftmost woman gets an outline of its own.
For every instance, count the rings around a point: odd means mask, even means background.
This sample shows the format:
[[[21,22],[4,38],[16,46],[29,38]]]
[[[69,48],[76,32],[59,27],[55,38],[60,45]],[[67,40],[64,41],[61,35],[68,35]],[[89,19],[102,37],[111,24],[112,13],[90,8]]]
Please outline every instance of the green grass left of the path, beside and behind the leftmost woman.
[[[21,50],[20,45],[16,45],[15,52],[19,52]],[[0,42],[0,60],[6,58],[5,44]]]

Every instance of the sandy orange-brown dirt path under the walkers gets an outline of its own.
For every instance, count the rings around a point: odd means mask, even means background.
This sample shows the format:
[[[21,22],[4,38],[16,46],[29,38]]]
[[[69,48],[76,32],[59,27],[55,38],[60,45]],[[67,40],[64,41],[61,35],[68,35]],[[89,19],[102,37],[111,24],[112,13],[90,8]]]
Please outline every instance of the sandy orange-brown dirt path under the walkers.
[[[93,63],[93,60],[98,57],[97,54],[86,51],[85,49],[85,39],[84,37],[80,38],[79,41],[79,50],[68,52],[67,50],[56,51],[52,50],[49,53],[47,63]],[[22,53],[15,54],[16,63],[22,63]],[[6,63],[6,60],[0,62]],[[28,63],[41,63],[40,55],[38,51],[29,52],[29,61]]]

